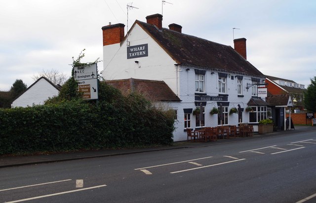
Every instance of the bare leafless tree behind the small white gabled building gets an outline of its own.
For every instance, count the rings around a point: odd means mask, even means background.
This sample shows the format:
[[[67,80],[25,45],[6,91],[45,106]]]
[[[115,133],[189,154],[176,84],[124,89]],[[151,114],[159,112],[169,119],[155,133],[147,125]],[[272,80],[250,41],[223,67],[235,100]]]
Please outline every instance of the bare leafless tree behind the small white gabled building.
[[[46,77],[55,85],[63,85],[68,79],[67,74],[59,72],[58,70],[55,70],[53,68],[50,70],[43,69],[41,72],[38,73],[38,75],[33,75],[32,79],[36,81],[40,77]]]

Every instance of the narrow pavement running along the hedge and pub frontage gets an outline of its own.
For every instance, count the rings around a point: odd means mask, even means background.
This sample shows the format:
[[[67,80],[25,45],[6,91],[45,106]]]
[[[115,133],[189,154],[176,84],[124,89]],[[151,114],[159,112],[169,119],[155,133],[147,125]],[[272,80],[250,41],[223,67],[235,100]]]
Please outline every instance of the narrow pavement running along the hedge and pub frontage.
[[[289,135],[294,133],[303,133],[309,131],[316,131],[314,126],[295,126],[295,130],[288,131],[276,131],[270,134],[254,134],[252,137],[236,137],[230,139],[218,139],[215,142],[188,142],[179,141],[174,142],[172,146],[161,146],[153,148],[138,148],[138,149],[104,149],[104,150],[89,150],[89,151],[77,151],[69,153],[56,153],[56,154],[40,154],[40,155],[28,155],[28,156],[0,156],[0,168],[35,165],[52,162],[72,161],[79,159],[89,159],[97,157],[118,156],[134,153],[144,153],[161,150],[172,150],[190,147],[205,147],[216,144],[223,144],[229,142],[244,141],[249,139],[264,138],[268,136]]]

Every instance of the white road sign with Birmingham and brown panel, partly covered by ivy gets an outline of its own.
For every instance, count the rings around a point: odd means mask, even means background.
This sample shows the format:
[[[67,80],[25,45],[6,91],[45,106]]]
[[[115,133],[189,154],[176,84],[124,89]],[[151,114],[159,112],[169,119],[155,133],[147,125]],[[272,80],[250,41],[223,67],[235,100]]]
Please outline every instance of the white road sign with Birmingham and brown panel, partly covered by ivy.
[[[98,70],[97,64],[74,67],[74,77],[78,81],[79,92],[83,100],[98,99]]]

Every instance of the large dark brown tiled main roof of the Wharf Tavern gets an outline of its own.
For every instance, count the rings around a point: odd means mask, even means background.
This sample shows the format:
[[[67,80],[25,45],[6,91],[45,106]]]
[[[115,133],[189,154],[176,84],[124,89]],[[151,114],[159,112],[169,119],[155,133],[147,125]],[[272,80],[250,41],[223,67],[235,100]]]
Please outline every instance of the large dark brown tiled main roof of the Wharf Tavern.
[[[165,28],[158,30],[155,26],[138,20],[135,23],[151,35],[177,64],[264,77],[263,73],[231,46]]]

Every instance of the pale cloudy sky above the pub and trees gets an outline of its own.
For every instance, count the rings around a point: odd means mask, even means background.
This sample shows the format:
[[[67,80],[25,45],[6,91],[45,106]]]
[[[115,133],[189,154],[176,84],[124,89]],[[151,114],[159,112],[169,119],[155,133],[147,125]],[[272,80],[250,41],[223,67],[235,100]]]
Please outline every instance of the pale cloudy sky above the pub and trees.
[[[136,8],[128,10],[126,5]],[[0,91],[16,79],[29,87],[34,75],[71,75],[74,57],[103,60],[102,27],[162,14],[162,27],[234,48],[246,38],[247,60],[263,74],[310,84],[316,76],[315,0],[0,0]],[[233,29],[236,28],[236,29]],[[103,63],[98,63],[98,70]]]

